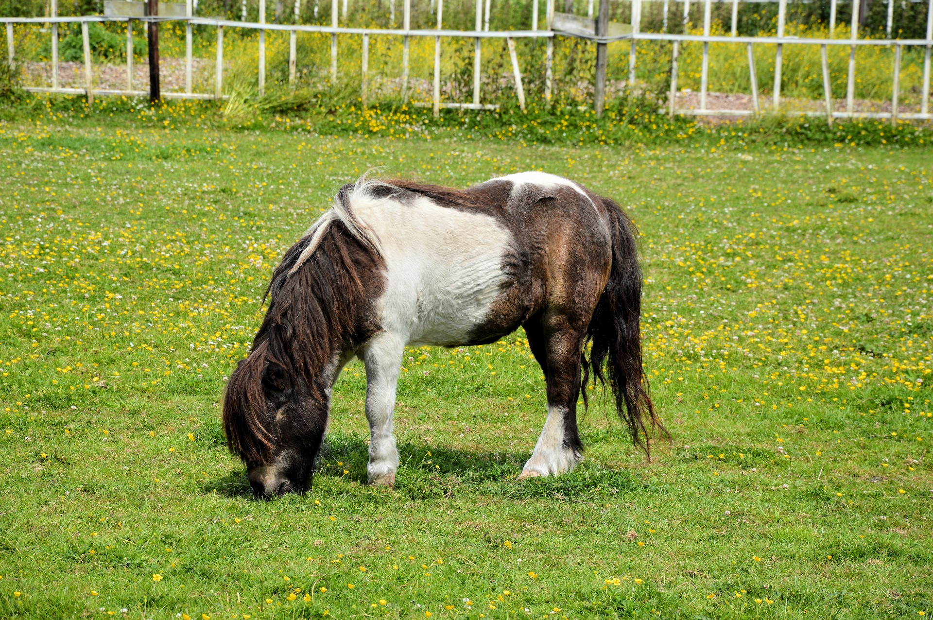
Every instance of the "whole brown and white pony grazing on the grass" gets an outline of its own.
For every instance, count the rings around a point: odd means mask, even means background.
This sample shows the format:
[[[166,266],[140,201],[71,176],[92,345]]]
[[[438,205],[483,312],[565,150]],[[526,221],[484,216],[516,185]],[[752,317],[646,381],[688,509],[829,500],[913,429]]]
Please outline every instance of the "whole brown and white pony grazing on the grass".
[[[520,479],[582,459],[577,399],[591,376],[608,376],[620,418],[648,451],[651,427],[663,429],[642,371],[635,235],[615,202],[543,172],[464,190],[366,179],[341,187],[272,274],[265,320],[227,386],[227,441],[253,492],[308,488],[331,391],[354,357],[366,366],[369,482],[392,486],[405,346],[487,344],[520,325],[548,394]]]

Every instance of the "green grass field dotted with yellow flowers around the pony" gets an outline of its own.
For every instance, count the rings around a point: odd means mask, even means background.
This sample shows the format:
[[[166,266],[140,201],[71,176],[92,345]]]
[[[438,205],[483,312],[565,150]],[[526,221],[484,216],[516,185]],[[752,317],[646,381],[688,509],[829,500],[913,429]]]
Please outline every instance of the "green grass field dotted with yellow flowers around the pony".
[[[933,613],[928,148],[523,146],[0,124],[0,617],[752,618]],[[257,502],[219,406],[263,287],[370,167],[540,169],[642,233],[673,445],[609,406],[517,482],[545,417],[522,333],[407,353],[393,490],[344,372],[302,497]],[[596,394],[598,396],[598,394]]]

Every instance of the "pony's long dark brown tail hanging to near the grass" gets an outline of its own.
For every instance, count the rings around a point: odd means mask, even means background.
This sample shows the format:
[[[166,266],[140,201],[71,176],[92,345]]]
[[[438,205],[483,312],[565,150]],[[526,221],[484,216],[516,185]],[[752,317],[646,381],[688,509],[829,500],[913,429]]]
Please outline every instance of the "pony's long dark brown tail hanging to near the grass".
[[[635,242],[637,231],[618,204],[606,199],[603,204],[609,217],[612,267],[586,334],[592,348],[589,361],[583,359],[582,392],[586,400],[591,370],[594,382],[598,380],[603,385],[608,375],[620,420],[628,426],[634,445],[644,449],[650,461],[653,443],[650,436],[665,434],[670,439],[670,434],[655,413],[648,395],[648,378],[642,369],[642,277]]]

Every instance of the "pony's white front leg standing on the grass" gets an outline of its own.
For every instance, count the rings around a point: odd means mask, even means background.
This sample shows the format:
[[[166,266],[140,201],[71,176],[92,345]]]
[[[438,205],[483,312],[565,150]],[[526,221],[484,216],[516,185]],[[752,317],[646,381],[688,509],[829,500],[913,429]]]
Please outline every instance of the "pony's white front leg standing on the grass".
[[[398,450],[392,412],[405,343],[383,332],[372,338],[363,353],[366,365],[366,419],[369,420],[369,484],[392,487],[396,483]]]

